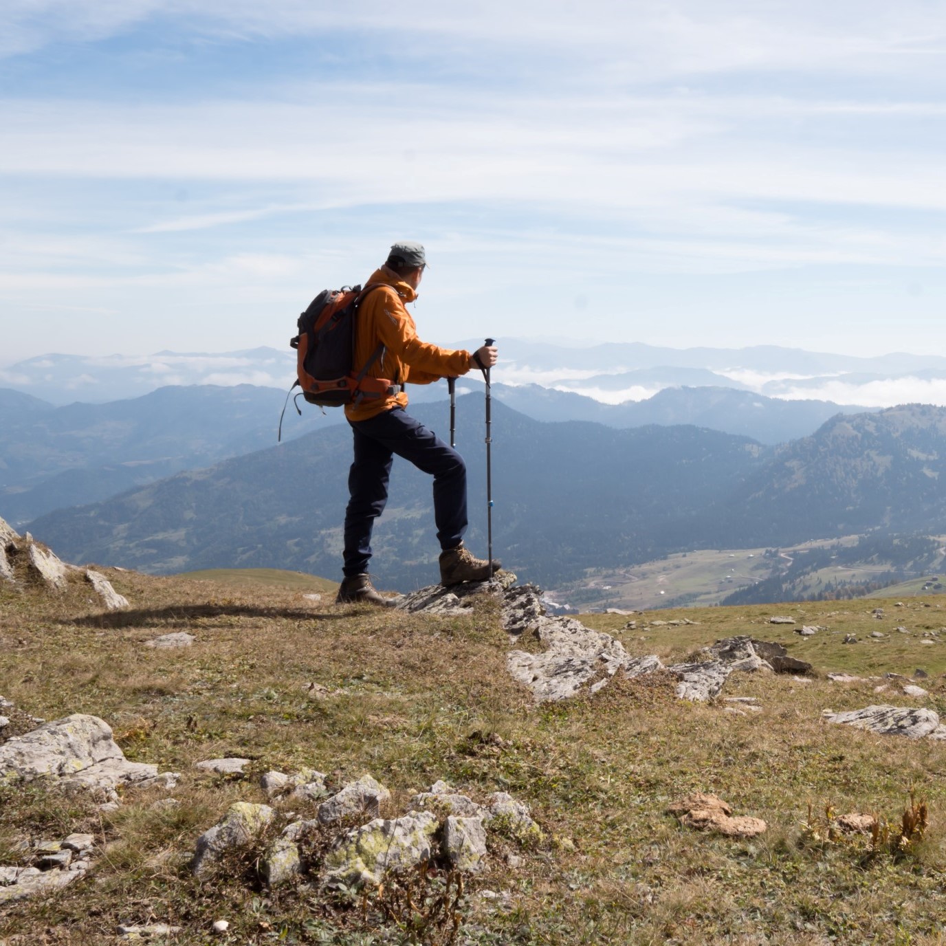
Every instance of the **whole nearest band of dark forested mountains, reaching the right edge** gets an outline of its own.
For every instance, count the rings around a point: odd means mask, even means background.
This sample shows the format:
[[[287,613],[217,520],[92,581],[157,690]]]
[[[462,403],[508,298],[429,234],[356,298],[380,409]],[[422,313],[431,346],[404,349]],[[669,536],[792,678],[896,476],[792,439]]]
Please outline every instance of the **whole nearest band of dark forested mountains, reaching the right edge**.
[[[446,427],[442,407],[416,412]],[[470,543],[482,552],[482,398],[461,398],[458,415],[471,474]],[[674,551],[946,531],[946,409],[839,416],[772,448],[689,426],[542,423],[496,402],[493,435],[497,552],[520,578],[547,586]],[[332,575],[349,462],[347,430],[331,427],[42,517],[30,530],[73,560]],[[436,552],[429,482],[395,464],[389,513],[377,530],[380,584],[427,583]]]

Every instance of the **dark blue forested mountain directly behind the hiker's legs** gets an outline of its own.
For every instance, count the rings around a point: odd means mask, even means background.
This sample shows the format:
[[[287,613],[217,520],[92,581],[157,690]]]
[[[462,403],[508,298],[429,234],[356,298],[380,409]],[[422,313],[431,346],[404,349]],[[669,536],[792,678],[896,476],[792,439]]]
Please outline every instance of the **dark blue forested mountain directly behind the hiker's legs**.
[[[485,549],[482,397],[458,404],[470,474],[469,544]],[[438,405],[418,416],[447,433]],[[351,462],[350,432],[331,427],[105,502],[37,519],[30,530],[74,561],[150,571],[273,567],[332,575]],[[554,584],[609,561],[643,561],[710,541],[706,519],[762,464],[745,437],[694,427],[543,424],[493,404],[495,548],[523,580]],[[374,570],[386,587],[436,574],[430,483],[395,460]]]

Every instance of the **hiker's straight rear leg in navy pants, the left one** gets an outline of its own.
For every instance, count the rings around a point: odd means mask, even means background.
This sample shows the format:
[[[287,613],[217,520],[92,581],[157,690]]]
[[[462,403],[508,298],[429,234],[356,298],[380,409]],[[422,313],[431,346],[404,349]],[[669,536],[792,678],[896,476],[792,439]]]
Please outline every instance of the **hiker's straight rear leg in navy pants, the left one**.
[[[360,423],[366,423],[361,421]],[[348,507],[345,510],[344,566],[346,577],[368,572],[371,532],[388,501],[388,479],[394,459],[391,450],[352,425],[355,458],[348,471]]]

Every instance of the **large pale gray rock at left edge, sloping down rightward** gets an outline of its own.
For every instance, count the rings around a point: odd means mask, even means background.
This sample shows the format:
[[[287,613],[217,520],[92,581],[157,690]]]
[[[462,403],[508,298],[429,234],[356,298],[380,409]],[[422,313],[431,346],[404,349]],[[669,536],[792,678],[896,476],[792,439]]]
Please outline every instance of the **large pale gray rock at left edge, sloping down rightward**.
[[[111,727],[83,713],[44,723],[0,745],[0,780],[41,776],[112,791],[119,784],[148,785],[175,778],[174,773],[159,776],[156,765],[128,762]]]

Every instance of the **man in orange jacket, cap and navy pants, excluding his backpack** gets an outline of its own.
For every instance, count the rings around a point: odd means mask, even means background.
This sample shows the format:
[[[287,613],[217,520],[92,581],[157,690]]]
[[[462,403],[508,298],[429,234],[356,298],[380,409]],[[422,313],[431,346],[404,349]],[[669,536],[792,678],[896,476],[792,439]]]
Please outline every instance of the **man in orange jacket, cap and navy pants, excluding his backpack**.
[[[344,580],[338,604],[390,604],[377,593],[368,575],[371,532],[388,499],[388,478],[394,454],[410,460],[433,476],[433,515],[440,541],[440,580],[443,585],[485,581],[490,563],[464,548],[466,531],[466,466],[463,457],[407,412],[403,385],[430,384],[442,377],[465,375],[473,368],[496,364],[497,350],[483,345],[474,353],[438,348],[417,338],[414,321],[405,307],[417,298],[427,267],[424,247],[407,240],[395,243],[384,265],[365,286],[383,284],[365,297],[359,309],[354,368],[370,361],[378,344],[384,352],[368,375],[387,377],[400,392],[386,398],[346,404],[345,417],[355,441],[355,460],[348,473],[350,499],[345,510]],[[494,560],[492,570],[499,569]]]

